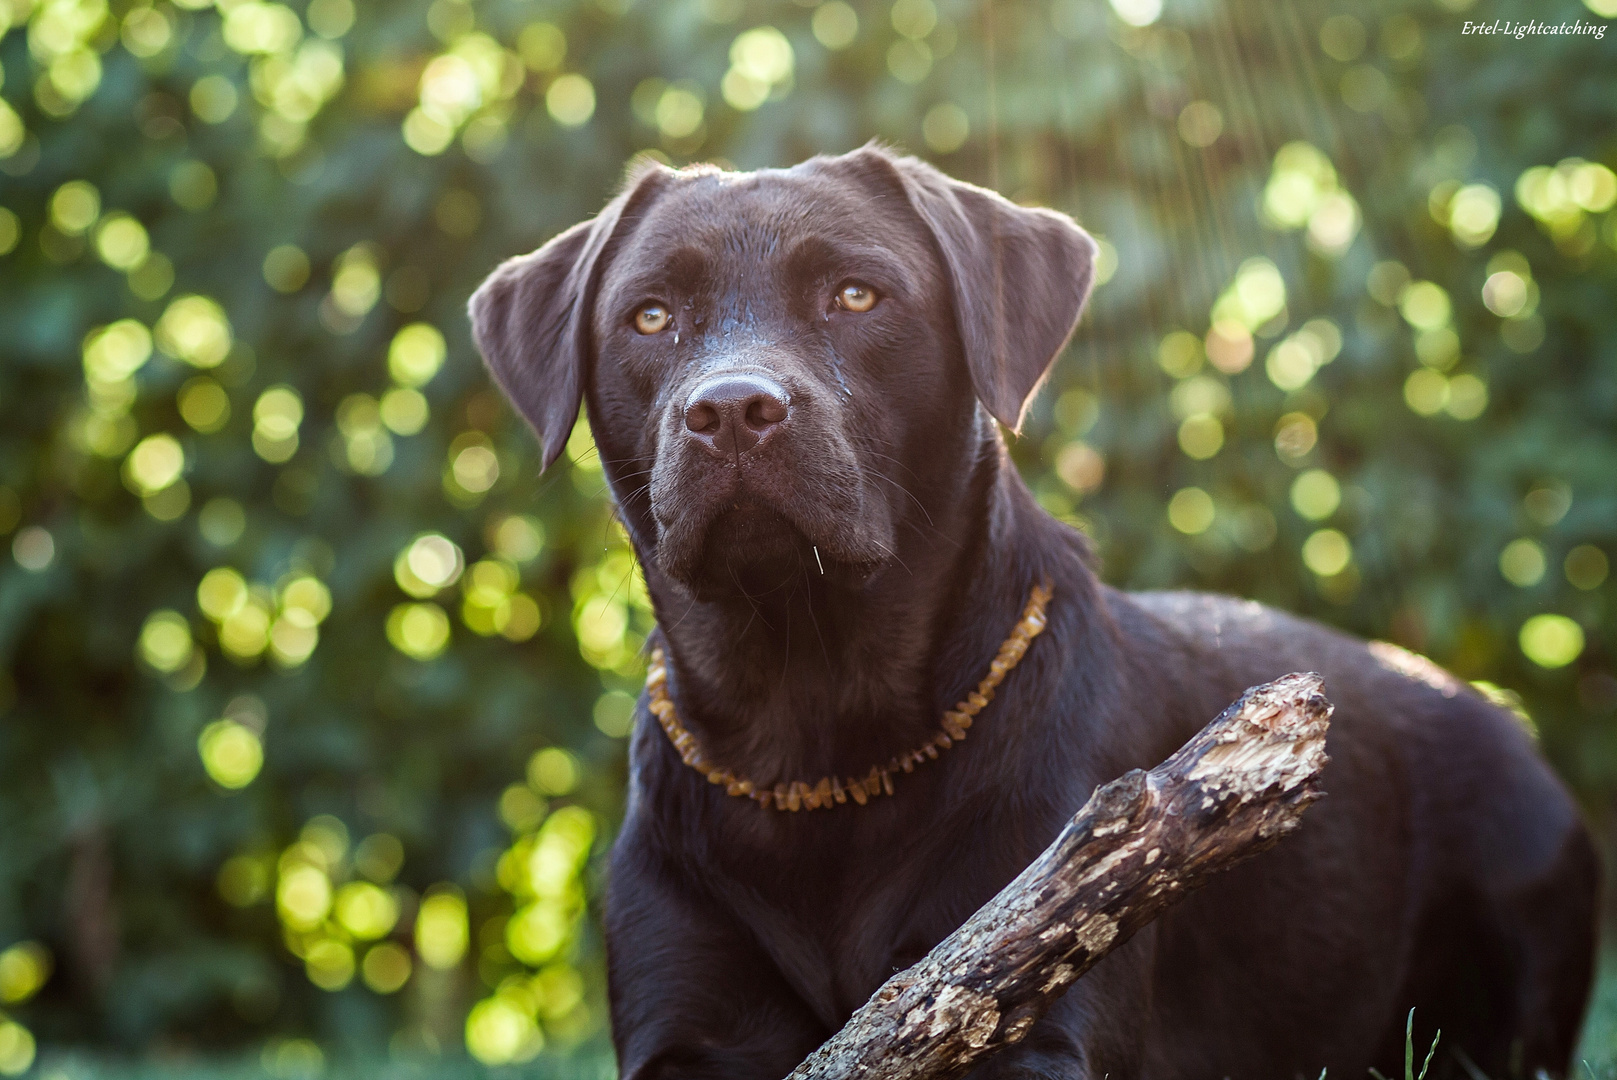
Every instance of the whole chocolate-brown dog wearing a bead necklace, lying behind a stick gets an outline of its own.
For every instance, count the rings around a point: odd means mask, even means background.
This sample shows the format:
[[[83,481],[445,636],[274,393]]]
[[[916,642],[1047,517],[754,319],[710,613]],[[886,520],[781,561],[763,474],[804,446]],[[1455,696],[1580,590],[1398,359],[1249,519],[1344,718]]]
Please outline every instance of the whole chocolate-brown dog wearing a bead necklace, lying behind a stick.
[[[1328,797],[972,1075],[1394,1074],[1410,1009],[1438,1074],[1567,1069],[1598,863],[1517,719],[1389,645],[1103,585],[1007,459],[1095,255],[867,146],[640,167],[472,297],[547,466],[587,403],[657,613],[605,901],[626,1080],[784,1077],[1098,784],[1297,669],[1336,703]]]

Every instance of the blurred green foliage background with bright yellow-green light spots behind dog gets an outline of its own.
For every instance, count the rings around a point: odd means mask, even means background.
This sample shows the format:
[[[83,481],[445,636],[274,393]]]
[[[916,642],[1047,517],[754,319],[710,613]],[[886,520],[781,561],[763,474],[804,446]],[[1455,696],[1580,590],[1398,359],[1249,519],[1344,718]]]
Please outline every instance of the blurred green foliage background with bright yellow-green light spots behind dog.
[[[1612,16],[0,0],[0,1075],[613,1075],[650,611],[464,306],[637,154],[878,137],[1075,215],[1014,454],[1106,579],[1436,658],[1609,836]],[[1465,32],[1528,18],[1585,32]]]

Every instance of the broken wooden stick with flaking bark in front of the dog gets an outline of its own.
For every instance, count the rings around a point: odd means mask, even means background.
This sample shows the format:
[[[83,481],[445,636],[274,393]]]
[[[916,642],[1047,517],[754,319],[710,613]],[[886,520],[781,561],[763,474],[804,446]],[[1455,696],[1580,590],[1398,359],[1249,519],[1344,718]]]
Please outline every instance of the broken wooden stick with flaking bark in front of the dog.
[[[899,972],[789,1080],[949,1080],[1017,1043],[1103,956],[1323,794],[1316,674],[1240,695],[1150,773],[1095,789],[1043,855]]]

